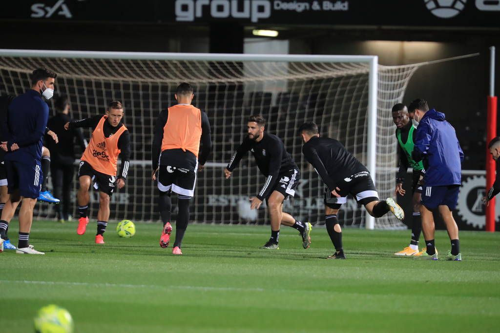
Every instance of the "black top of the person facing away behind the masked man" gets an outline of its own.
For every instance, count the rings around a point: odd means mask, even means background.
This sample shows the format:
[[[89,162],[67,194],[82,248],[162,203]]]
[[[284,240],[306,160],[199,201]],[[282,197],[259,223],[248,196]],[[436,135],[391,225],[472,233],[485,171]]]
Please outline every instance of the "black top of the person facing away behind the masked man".
[[[74,141],[80,146],[81,151],[85,150],[85,139],[81,129],[72,127],[68,130],[64,129],[64,124],[71,122],[69,115],[58,112],[55,116],[50,117],[47,122],[49,127],[59,139],[59,143],[55,143],[51,137],[45,135],[45,145],[50,150],[50,158],[52,163],[72,164],[74,161]]]

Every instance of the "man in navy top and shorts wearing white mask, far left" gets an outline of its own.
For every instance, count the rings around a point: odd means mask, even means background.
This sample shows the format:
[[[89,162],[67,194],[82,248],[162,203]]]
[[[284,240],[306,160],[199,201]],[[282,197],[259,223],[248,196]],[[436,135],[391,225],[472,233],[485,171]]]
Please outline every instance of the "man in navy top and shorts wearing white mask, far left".
[[[53,95],[56,74],[45,68],[31,73],[31,89],[15,97],[8,106],[6,141],[1,149],[8,151],[4,157],[7,172],[9,199],[5,203],[0,221],[0,252],[3,250],[3,237],[15,209],[22,201],[19,210],[19,240],[16,253],[37,254],[29,245],[29,231],[33,220],[33,208],[40,192],[40,172],[42,138],[48,119],[48,105],[41,98],[50,99]],[[40,96],[41,95],[41,96]],[[4,128],[2,126],[2,128]]]

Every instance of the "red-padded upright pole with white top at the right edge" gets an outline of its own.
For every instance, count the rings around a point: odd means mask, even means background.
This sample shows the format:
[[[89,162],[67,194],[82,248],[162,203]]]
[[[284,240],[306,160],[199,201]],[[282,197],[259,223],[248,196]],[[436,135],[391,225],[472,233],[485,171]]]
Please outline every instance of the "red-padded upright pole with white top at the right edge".
[[[487,97],[487,120],[486,120],[486,191],[488,191],[495,181],[495,161],[489,154],[487,145],[496,136],[496,96],[495,90],[495,47],[489,48],[489,96]],[[489,201],[486,206],[486,231],[495,231],[495,198]]]

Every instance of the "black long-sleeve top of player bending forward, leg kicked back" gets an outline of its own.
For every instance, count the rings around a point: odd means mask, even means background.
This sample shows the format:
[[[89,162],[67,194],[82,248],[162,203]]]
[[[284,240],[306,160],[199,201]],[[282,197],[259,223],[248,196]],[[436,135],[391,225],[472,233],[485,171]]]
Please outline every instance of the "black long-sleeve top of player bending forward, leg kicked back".
[[[352,178],[367,177],[368,169],[337,140],[313,136],[302,146],[302,153],[330,191],[342,189]]]

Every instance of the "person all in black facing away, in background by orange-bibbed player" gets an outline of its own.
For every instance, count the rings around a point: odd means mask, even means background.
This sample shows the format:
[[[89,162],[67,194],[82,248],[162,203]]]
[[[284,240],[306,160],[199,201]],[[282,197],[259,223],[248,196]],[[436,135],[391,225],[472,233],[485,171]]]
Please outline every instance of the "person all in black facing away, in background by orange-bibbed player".
[[[56,206],[57,219],[59,222],[69,220],[69,205],[74,178],[74,141],[85,151],[85,140],[79,128],[64,130],[64,124],[71,122],[69,117],[69,103],[67,96],[62,95],[54,101],[55,116],[48,119],[50,127],[59,137],[59,143],[46,140],[47,147],[51,152],[52,161],[50,163],[50,173],[52,174],[52,188],[54,195],[61,199],[61,203]]]

